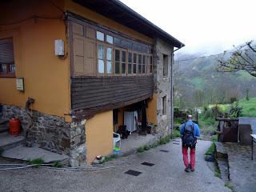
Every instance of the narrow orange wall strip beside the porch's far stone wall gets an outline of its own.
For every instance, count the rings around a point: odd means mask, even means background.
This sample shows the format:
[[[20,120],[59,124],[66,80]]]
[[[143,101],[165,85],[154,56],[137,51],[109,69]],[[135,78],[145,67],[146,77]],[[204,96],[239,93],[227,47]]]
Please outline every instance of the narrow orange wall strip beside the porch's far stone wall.
[[[157,94],[153,95],[153,98],[148,102],[148,108],[146,108],[146,116],[148,122],[153,122],[157,125]]]

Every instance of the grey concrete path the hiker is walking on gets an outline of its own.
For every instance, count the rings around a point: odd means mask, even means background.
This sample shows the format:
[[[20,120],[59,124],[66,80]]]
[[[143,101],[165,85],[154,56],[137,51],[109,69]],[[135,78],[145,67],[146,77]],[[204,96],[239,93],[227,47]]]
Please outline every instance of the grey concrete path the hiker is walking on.
[[[142,154],[133,154],[118,160],[130,166],[94,172],[48,170],[0,171],[1,191],[229,191],[221,179],[214,177],[214,165],[204,161],[210,142],[198,142],[197,165],[194,173],[186,173],[182,163],[181,143],[170,142]],[[169,150],[161,152],[159,150]],[[142,162],[154,163],[143,166]],[[0,160],[0,163],[3,161]],[[142,172],[137,177],[124,174],[127,170]]]

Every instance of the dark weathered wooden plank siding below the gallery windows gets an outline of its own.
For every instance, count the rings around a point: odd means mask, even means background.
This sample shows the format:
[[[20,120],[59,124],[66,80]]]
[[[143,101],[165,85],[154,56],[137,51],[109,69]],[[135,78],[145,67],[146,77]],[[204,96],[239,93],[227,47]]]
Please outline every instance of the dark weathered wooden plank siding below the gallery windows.
[[[72,77],[71,105],[83,118],[153,96],[153,75]],[[78,114],[78,113],[77,113]]]

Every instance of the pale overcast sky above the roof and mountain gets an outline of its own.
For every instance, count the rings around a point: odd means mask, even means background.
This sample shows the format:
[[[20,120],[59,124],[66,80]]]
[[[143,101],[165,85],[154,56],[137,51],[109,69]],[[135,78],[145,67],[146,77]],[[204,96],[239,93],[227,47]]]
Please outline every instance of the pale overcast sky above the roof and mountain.
[[[121,0],[186,44],[180,52],[218,54],[256,39],[255,0]]]

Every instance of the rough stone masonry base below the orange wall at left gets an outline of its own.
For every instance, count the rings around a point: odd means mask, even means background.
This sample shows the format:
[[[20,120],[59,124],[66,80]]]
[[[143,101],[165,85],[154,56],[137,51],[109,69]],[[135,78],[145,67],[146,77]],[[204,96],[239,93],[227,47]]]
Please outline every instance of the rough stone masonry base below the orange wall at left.
[[[64,118],[18,106],[2,105],[0,121],[19,118],[26,146],[38,145],[55,153],[68,154],[71,166],[86,162],[85,121],[65,122]]]

